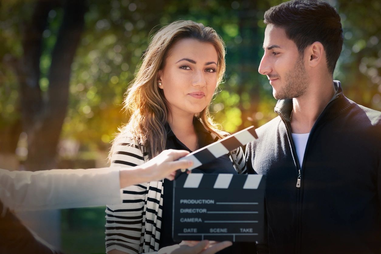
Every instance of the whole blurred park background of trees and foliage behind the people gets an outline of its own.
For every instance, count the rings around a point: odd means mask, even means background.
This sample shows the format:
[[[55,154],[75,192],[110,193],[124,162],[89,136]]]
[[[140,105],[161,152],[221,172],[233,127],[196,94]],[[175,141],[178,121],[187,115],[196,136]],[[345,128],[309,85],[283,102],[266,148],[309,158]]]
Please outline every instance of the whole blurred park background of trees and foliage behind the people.
[[[211,104],[228,132],[274,118],[258,73],[263,14],[280,0],[5,0],[0,2],[0,168],[107,166],[128,121],[123,94],[155,31],[178,19],[213,27],[227,71]],[[329,0],[344,46],[334,78],[355,102],[381,110],[381,0]],[[20,213],[67,253],[104,253],[104,208]]]

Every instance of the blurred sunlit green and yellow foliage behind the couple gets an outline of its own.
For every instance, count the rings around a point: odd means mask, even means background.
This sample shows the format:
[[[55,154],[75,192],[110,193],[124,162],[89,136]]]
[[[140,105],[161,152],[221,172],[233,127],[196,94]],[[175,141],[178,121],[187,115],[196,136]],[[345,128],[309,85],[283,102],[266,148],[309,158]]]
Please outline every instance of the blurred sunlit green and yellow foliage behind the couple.
[[[282,1],[89,1],[85,32],[72,64],[70,98],[62,138],[79,141],[84,150],[108,150],[117,127],[128,121],[121,112],[123,93],[133,80],[152,34],[177,19],[191,19],[215,28],[226,42],[227,71],[211,104],[216,122],[229,132],[273,117],[275,99],[266,77],[257,72],[263,54],[263,14]],[[380,2],[330,1],[342,16],[345,42],[335,71],[346,95],[367,107],[381,109]],[[22,54],[19,23],[33,1],[10,1],[1,8],[0,58]],[[372,6],[372,8],[368,8]],[[13,10],[10,12],[9,10]],[[12,14],[11,14],[12,13]],[[43,33],[40,88],[46,77],[62,21],[62,8],[51,10]],[[19,117],[18,85],[4,61],[0,64],[1,124]]]

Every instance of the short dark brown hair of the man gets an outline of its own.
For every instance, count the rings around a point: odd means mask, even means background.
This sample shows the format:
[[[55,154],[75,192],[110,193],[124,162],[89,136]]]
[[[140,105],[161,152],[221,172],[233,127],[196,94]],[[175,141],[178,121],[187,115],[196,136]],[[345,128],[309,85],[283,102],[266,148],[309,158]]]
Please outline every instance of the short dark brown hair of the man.
[[[299,53],[314,42],[322,43],[328,71],[333,74],[343,47],[343,29],[339,13],[329,3],[320,0],[281,3],[266,11],[264,23],[285,29]]]

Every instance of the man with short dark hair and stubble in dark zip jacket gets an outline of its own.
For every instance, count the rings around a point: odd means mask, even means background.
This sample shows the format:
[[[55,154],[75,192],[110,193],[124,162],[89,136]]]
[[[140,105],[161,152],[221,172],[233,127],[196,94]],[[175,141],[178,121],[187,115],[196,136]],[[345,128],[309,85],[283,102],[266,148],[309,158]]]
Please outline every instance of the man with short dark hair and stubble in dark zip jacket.
[[[333,70],[343,44],[337,11],[295,0],[264,14],[259,73],[278,117],[247,146],[264,174],[270,253],[381,253],[381,112],[347,99]]]

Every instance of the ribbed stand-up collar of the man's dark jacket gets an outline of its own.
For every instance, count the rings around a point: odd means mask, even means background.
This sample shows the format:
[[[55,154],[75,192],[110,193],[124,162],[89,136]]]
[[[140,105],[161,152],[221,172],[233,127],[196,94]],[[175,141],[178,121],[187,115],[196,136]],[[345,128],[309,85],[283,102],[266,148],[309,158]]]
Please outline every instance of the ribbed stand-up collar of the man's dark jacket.
[[[343,89],[341,88],[341,83],[338,80],[334,80],[333,84],[335,86],[336,93],[333,95],[330,102],[328,102],[327,107],[332,107],[332,110],[336,113],[340,113],[342,110],[347,109],[355,104],[355,102],[347,99],[343,94]],[[331,103],[335,101],[334,103]],[[331,104],[331,105],[330,105]],[[290,115],[293,104],[292,99],[278,100],[277,105],[275,105],[274,111],[278,113],[285,121],[290,121]],[[324,110],[323,110],[324,111]]]

